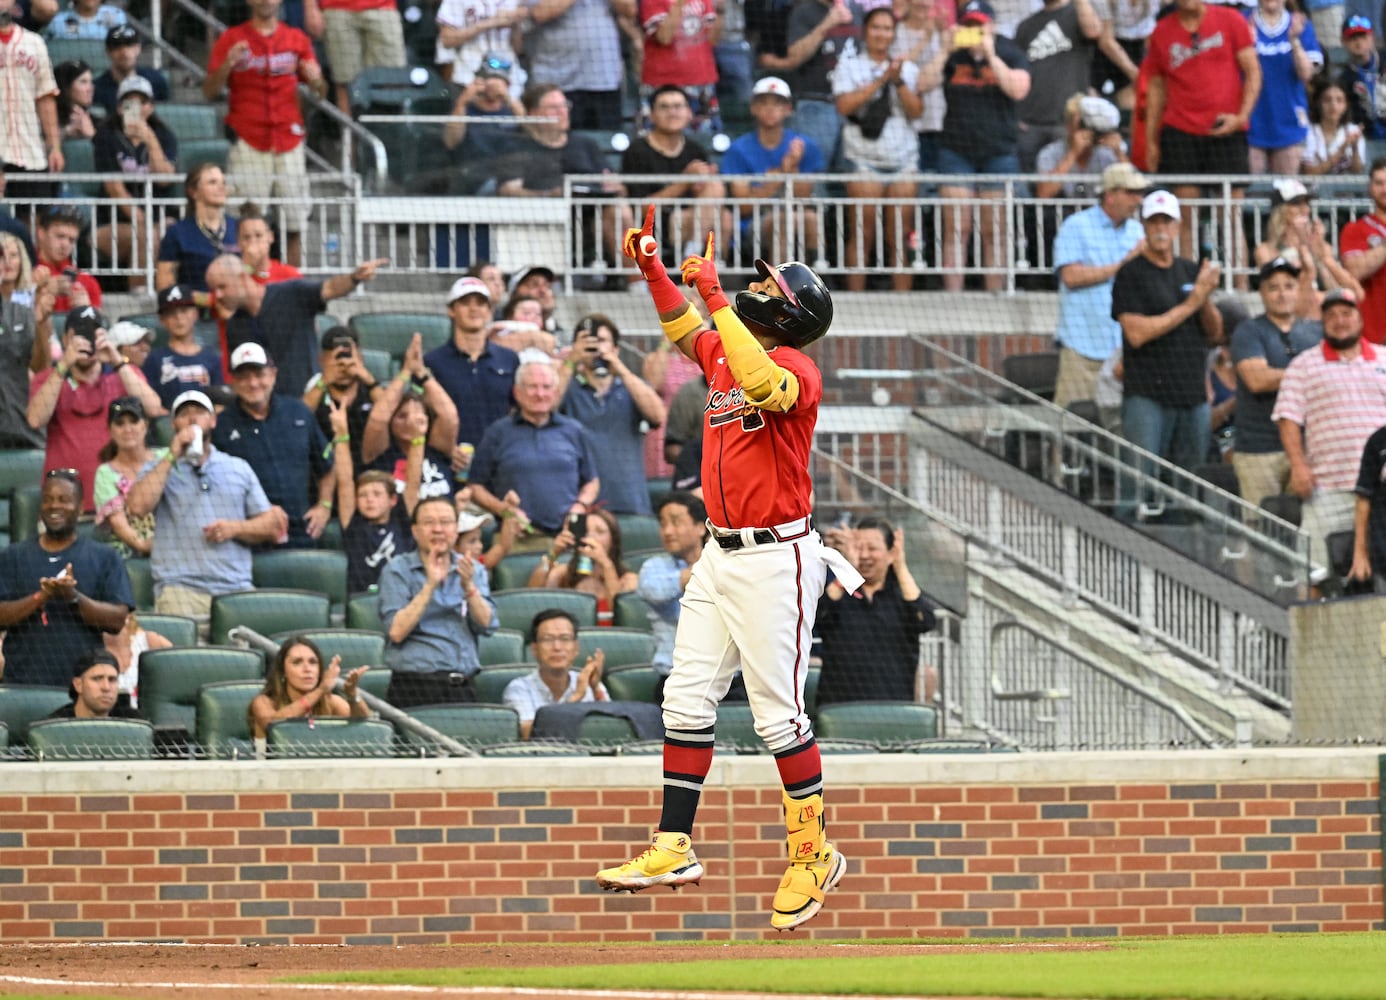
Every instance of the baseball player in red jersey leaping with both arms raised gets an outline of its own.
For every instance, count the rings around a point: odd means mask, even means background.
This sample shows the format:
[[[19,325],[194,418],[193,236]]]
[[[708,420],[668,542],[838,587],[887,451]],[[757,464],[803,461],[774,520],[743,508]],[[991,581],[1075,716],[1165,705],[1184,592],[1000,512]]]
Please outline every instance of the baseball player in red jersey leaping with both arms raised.
[[[703,429],[707,547],[687,582],[664,686],[664,807],[649,849],[597,873],[603,889],[697,882],[693,817],[712,765],[717,706],[742,669],[755,731],[784,785],[789,870],[771,925],[798,927],[819,911],[847,860],[826,839],[823,770],[804,713],[804,677],[827,568],[854,591],[862,578],[809,526],[808,452],[823,380],[800,349],[827,332],[833,301],[798,262],[755,262],[761,280],[728,302],[707,253],[683,262],[683,281],[707,303],[707,330],[660,263],[654,208],[625,235],[665,335],[708,381]]]

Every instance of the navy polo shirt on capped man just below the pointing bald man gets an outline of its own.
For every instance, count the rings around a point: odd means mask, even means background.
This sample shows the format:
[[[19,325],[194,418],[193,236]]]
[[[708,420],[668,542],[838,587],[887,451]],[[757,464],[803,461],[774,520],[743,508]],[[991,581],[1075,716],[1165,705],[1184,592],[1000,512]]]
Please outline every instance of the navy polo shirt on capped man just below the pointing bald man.
[[[317,481],[333,468],[327,436],[304,400],[270,396],[269,414],[256,420],[240,400],[216,418],[212,443],[227,454],[244,458],[272,504],[288,514],[288,544],[312,548],[304,515],[317,503]]]

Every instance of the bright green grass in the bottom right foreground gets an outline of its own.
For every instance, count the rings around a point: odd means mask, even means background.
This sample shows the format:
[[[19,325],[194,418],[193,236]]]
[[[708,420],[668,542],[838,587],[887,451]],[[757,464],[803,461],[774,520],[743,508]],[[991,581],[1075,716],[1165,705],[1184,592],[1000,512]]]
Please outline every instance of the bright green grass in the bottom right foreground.
[[[821,947],[823,942],[802,942]],[[877,943],[877,942],[855,942]],[[958,942],[977,950],[809,958],[796,946],[766,947],[765,958],[718,961],[692,946],[686,960],[557,968],[439,968],[352,972],[299,982],[568,989],[753,990],[883,996],[1024,996],[1089,1000],[1382,1000],[1386,935],[1295,934],[1094,942]],[[1006,945],[1015,947],[1010,950]],[[999,945],[999,949],[998,949]],[[1073,946],[1080,947],[1073,947]],[[1035,947],[1038,950],[1021,950]],[[786,967],[786,960],[793,967]],[[844,961],[845,960],[845,961]]]

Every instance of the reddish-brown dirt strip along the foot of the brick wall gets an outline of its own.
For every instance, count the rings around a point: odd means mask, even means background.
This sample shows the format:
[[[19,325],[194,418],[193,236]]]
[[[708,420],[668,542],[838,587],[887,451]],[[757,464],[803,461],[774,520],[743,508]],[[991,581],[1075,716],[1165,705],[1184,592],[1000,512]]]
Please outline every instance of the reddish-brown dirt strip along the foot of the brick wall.
[[[1071,943],[1059,947],[1091,947]],[[852,957],[918,954],[955,950],[1015,950],[1017,946],[954,945],[833,945],[804,942],[786,949],[786,958],[836,957],[850,947]],[[1028,946],[1019,946],[1028,947]],[[1035,945],[1053,949],[1055,945]],[[274,983],[286,976],[316,972],[352,972],[389,968],[520,968],[534,965],[595,965],[624,963],[676,963],[690,958],[766,958],[775,947],[726,943],[719,946],[554,946],[554,945],[468,945],[468,946],[205,946],[205,945],[6,945],[0,946],[0,997],[7,994],[71,997],[139,997],[140,1000],[218,1000],[220,996],[255,1000],[305,1000],[312,996],[363,999],[395,996],[523,996],[545,997],[646,997],[697,1000],[733,997],[750,1000],[758,994],[730,993],[615,993],[611,990],[521,990],[514,988],[420,988],[420,986],[290,986]],[[198,996],[201,993],[201,996]],[[800,994],[798,1000],[814,1000]],[[858,997],[857,1000],[870,1000]],[[897,999],[898,1000],[898,999]]]

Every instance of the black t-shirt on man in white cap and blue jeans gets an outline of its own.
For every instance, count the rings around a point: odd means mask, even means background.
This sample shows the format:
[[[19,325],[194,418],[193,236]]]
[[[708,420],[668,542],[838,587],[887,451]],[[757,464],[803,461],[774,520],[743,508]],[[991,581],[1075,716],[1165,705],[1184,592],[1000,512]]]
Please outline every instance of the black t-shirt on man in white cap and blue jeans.
[[[1175,258],[1159,267],[1138,256],[1121,265],[1112,283],[1112,319],[1123,313],[1160,316],[1184,302],[1193,291],[1199,266]],[[1207,338],[1199,314],[1156,337],[1141,348],[1123,341],[1123,389],[1127,396],[1145,396],[1161,406],[1198,406],[1207,402]]]

